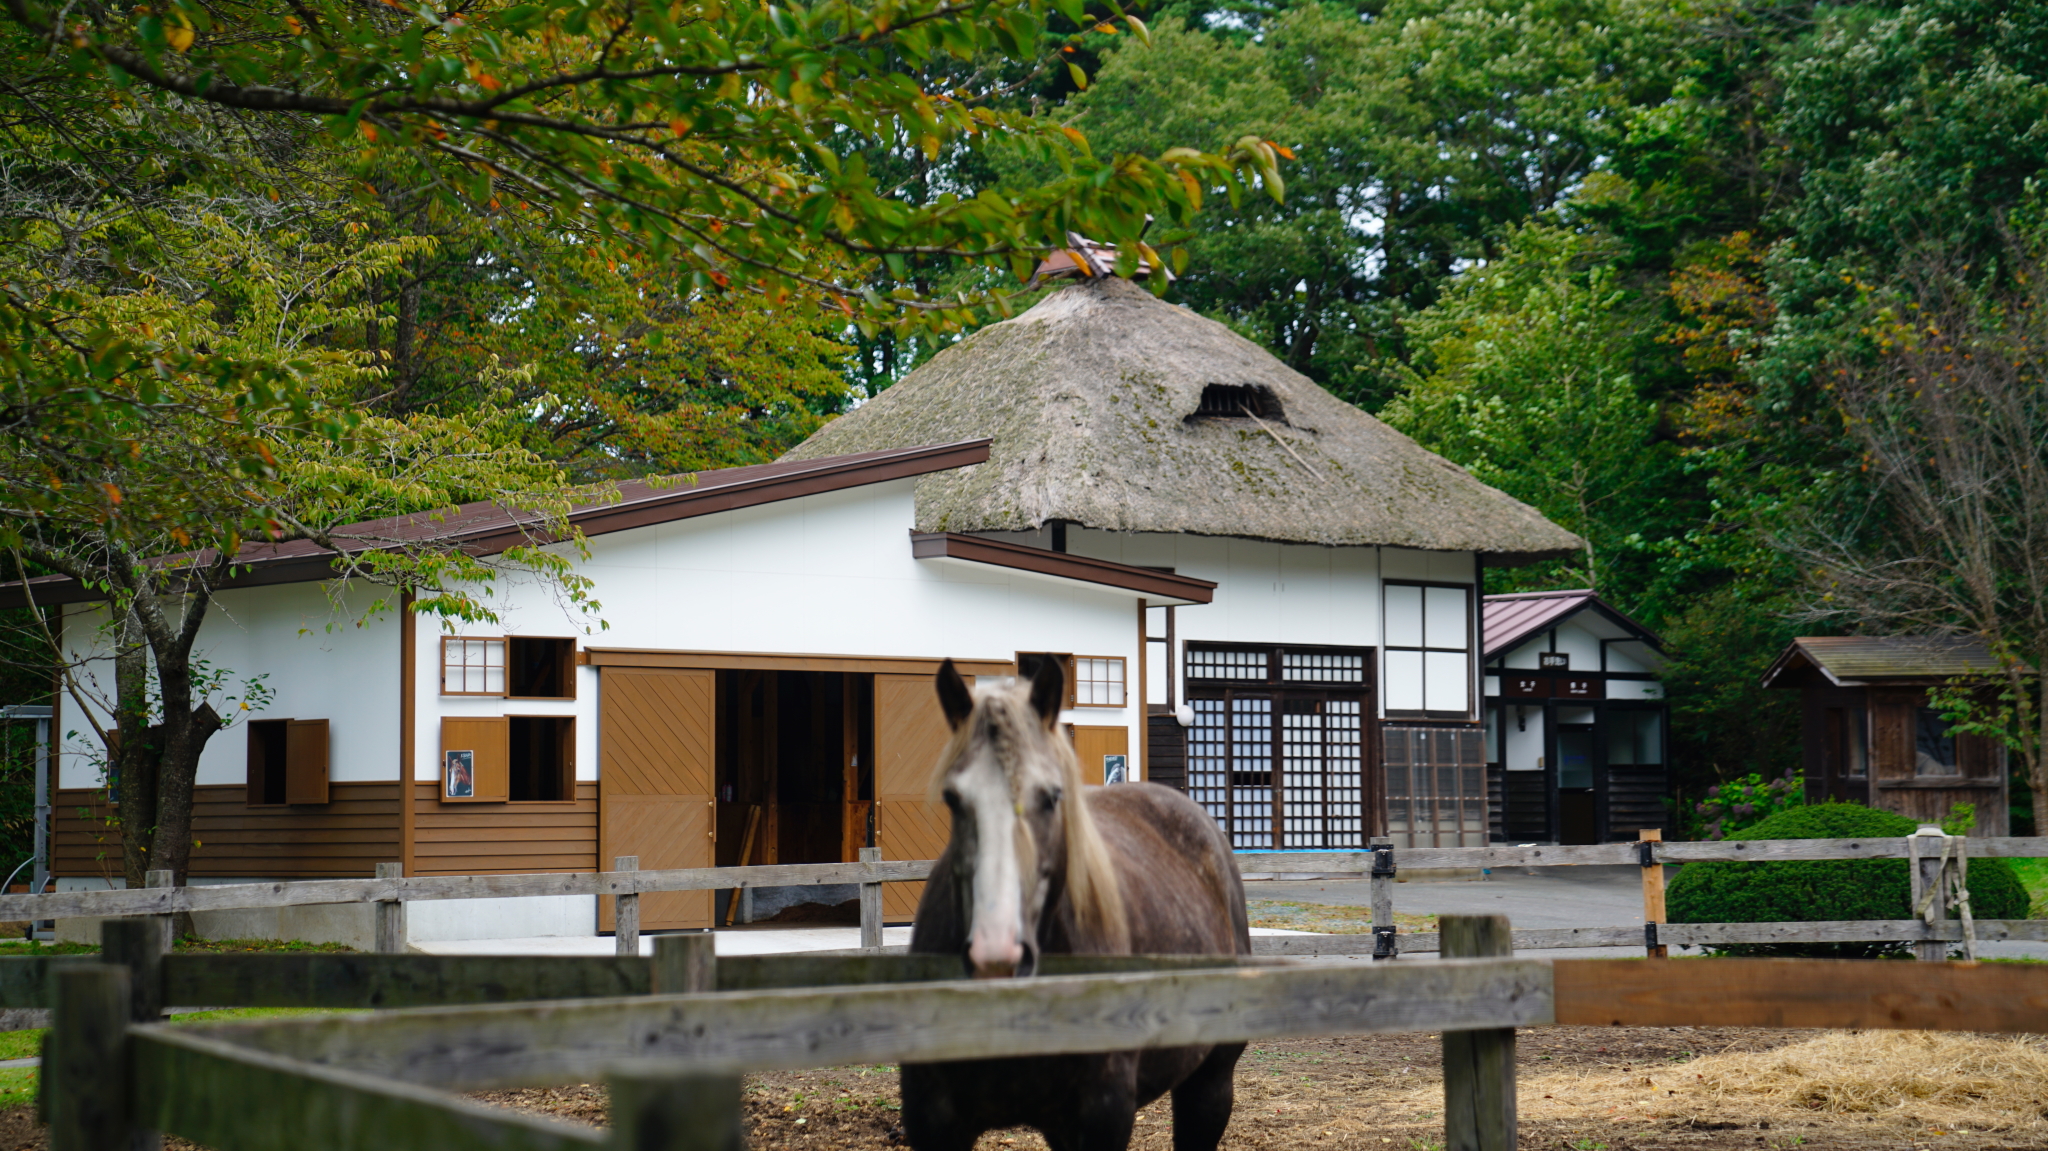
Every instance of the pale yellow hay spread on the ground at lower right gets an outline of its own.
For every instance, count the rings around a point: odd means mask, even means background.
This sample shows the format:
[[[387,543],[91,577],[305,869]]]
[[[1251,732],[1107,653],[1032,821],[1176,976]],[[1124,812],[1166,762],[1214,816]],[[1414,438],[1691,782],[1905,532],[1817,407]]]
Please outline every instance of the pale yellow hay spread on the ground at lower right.
[[[1774,1124],[1880,1122],[2048,1131],[2048,1040],[1956,1032],[1823,1032],[1755,1053],[1628,1073],[1522,1079],[1528,1118]]]

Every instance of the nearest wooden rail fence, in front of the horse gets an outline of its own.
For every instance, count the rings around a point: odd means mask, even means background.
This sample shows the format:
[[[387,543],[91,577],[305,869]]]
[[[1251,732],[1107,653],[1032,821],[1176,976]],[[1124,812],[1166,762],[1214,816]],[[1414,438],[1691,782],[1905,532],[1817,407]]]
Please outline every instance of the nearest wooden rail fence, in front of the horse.
[[[1507,920],[1444,918],[1444,944],[1499,954]],[[176,956],[145,922],[106,924],[102,954],[0,961],[0,993],[55,1004],[51,1151],[131,1151],[152,1131],[213,1151],[737,1151],[743,1071],[1417,1030],[1446,1032],[1448,1149],[1509,1151],[1513,1028],[2048,1032],[2048,973],[2003,965],[1118,956],[969,981],[956,956],[719,961],[709,936],[666,936],[653,958]],[[442,1006],[156,1022],[182,997]],[[528,997],[547,1001],[512,1001]],[[610,1131],[455,1094],[598,1079]]]

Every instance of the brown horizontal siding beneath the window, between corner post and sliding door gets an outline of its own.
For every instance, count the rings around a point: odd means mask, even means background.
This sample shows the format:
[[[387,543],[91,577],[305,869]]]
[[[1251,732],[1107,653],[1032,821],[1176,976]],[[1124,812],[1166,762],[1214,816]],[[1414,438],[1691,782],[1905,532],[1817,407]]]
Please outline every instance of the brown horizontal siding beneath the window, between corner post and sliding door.
[[[440,803],[438,782],[414,784],[412,875],[598,870],[598,782],[575,803]]]

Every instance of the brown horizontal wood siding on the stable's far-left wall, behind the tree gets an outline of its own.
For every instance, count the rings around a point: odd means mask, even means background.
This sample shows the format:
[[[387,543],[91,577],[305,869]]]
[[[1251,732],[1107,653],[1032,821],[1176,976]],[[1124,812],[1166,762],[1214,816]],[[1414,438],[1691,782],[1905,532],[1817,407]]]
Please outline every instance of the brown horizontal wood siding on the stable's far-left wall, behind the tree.
[[[334,782],[332,803],[250,807],[244,784],[193,793],[193,875],[203,879],[354,879],[399,858],[399,784]],[[121,836],[96,788],[59,788],[51,811],[51,870],[117,879]],[[84,811],[84,815],[80,815]]]

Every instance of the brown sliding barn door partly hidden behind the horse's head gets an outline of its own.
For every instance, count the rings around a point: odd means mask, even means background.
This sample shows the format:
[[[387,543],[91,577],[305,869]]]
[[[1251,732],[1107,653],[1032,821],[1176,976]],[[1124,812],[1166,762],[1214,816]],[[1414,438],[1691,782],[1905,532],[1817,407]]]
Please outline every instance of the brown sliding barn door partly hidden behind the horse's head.
[[[874,676],[874,844],[885,860],[946,850],[952,817],[932,801],[932,770],[948,735],[932,676]],[[883,915],[909,920],[922,897],[922,883],[885,883]]]

